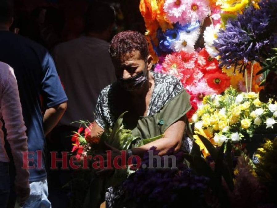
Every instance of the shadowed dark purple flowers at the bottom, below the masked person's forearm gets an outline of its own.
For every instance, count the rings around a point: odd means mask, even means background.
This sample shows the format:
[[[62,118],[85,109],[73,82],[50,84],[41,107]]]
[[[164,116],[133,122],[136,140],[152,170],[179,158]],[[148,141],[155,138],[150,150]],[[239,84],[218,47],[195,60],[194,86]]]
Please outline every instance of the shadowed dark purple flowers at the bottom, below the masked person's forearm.
[[[158,155],[156,148],[151,148],[153,155]],[[122,184],[124,194],[117,199],[118,207],[205,207],[204,194],[208,188],[208,179],[198,176],[183,164],[183,153],[167,155],[177,159],[177,169],[141,168],[130,175]],[[160,156],[161,157],[161,156]],[[162,167],[164,160],[161,157]],[[156,161],[156,160],[154,160]],[[149,165],[149,154],[143,157],[142,164]],[[157,163],[154,162],[155,167]],[[170,166],[170,164],[169,164]],[[117,207],[115,205],[115,207]]]

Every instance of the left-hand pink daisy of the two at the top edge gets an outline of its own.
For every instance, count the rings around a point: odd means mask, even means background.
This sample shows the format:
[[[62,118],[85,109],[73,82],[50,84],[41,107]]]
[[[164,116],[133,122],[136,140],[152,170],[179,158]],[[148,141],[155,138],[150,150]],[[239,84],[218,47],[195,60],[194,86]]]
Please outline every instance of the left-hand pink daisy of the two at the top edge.
[[[176,23],[179,21],[185,11],[186,0],[165,0],[164,11],[166,18]]]

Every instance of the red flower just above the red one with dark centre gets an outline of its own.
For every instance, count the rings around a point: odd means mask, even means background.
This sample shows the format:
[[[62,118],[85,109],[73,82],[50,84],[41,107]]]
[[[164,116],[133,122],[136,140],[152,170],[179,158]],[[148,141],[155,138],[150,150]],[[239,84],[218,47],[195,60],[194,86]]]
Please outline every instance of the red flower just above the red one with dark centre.
[[[203,73],[213,73],[220,70],[220,68],[218,67],[218,60],[211,57],[205,48],[203,48],[198,53],[196,65],[201,69]]]

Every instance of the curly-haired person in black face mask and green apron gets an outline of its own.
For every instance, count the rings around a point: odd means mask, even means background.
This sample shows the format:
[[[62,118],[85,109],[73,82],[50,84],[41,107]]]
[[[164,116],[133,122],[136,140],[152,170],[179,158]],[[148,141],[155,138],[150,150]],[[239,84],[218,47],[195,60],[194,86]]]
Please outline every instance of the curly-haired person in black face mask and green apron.
[[[151,71],[153,57],[141,33],[124,31],[115,35],[109,53],[117,81],[100,93],[91,136],[113,127],[116,119],[127,111],[124,127],[131,129],[134,136],[146,139],[165,134],[164,138],[133,147],[129,154],[142,156],[152,146],[160,150],[160,155],[171,148],[175,151],[186,148],[182,144],[186,113],[191,105],[180,80]]]

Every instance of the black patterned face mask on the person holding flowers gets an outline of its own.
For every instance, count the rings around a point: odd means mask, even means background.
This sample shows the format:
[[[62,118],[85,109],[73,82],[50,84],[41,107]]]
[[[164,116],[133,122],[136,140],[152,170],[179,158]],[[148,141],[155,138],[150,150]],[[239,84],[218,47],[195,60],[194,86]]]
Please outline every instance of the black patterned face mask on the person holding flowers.
[[[118,78],[120,86],[126,91],[135,91],[141,88],[147,80],[147,73],[144,74],[143,71],[128,79]]]

